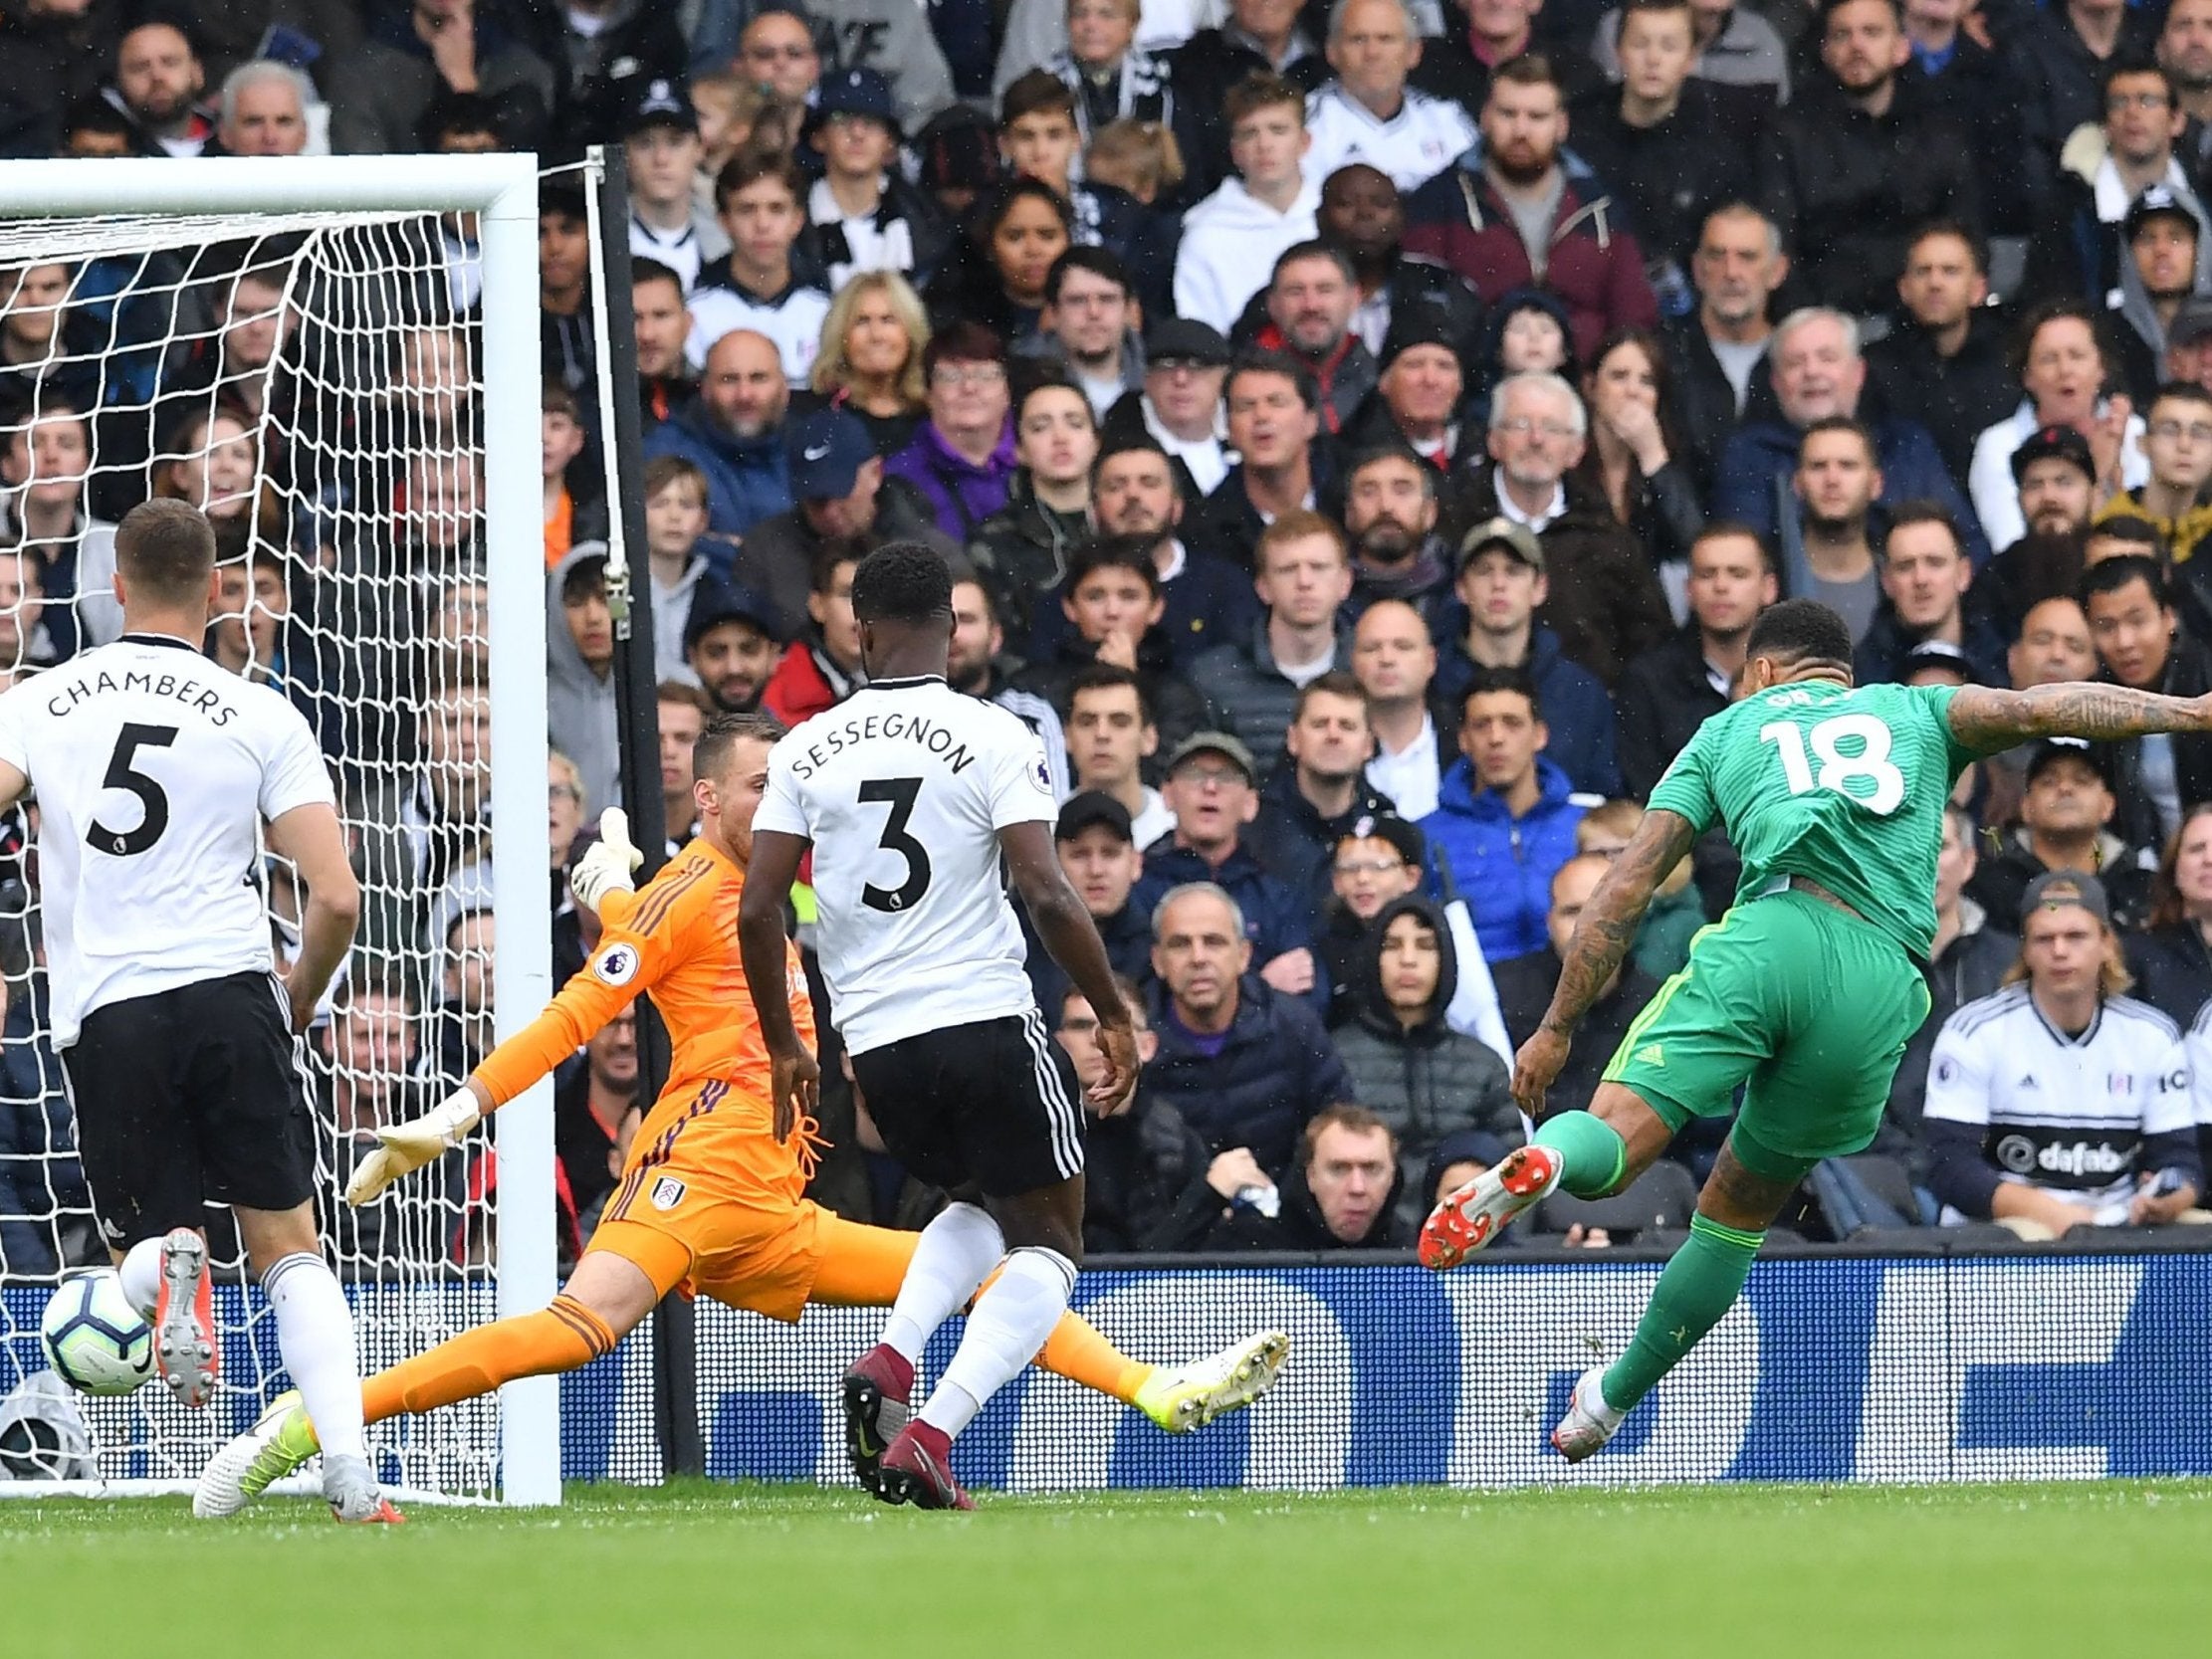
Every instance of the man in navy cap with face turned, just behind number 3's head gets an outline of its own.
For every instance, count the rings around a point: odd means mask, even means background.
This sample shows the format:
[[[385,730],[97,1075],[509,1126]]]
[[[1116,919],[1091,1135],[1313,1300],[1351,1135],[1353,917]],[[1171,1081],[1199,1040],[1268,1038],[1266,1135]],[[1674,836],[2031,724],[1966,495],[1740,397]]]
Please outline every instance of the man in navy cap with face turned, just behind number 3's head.
[[[759,588],[792,622],[807,611],[814,560],[825,542],[858,538],[927,542],[945,557],[960,546],[945,535],[929,502],[905,478],[889,478],[860,418],[845,407],[816,407],[794,420],[785,440],[792,507],[745,531],[737,577]]]

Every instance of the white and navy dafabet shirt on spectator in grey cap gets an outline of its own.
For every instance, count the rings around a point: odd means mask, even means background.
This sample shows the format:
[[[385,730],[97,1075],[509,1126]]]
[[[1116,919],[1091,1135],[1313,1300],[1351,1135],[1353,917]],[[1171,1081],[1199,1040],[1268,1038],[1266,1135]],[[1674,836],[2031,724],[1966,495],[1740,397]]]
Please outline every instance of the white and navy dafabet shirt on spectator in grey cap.
[[[2172,1020],[2148,1002],[2108,998],[2088,1031],[2068,1037],[2026,984],[1944,1022],[1929,1057],[1927,1117],[1980,1128],[2004,1181],[2121,1212],[2135,1197],[2143,1137],[2197,1121]]]

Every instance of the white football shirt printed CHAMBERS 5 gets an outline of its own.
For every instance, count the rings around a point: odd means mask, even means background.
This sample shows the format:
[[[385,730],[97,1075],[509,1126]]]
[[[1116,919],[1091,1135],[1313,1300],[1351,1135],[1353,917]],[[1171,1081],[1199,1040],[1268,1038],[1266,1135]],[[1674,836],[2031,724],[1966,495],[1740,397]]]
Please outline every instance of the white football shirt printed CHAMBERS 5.
[[[0,695],[0,761],[38,790],[58,1048],[111,1002],[274,969],[261,821],[336,801],[281,692],[124,635]]]

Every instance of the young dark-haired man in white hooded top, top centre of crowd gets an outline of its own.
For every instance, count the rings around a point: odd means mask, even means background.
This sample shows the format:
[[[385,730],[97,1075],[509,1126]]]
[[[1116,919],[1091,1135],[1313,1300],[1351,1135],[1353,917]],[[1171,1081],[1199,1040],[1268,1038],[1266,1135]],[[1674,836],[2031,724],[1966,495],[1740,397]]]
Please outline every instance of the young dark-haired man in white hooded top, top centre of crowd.
[[[1175,310],[1228,334],[1267,285],[1276,257],[1314,237],[1321,186],[1303,173],[1305,93],[1248,75],[1223,104],[1237,177],[1190,210],[1175,257]]]

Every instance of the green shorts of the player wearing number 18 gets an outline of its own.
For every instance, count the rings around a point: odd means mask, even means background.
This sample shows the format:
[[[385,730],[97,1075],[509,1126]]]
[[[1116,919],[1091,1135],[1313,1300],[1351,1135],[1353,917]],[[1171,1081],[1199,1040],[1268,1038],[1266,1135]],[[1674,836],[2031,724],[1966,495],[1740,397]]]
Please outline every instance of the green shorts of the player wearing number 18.
[[[1774,1152],[1816,1161],[1874,1141],[1905,1044],[1929,1018],[1905,949],[1809,894],[1736,905],[1690,945],[1606,1066],[1677,1135],[1739,1121]]]

